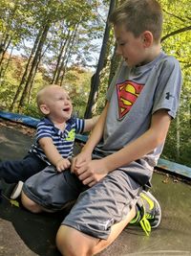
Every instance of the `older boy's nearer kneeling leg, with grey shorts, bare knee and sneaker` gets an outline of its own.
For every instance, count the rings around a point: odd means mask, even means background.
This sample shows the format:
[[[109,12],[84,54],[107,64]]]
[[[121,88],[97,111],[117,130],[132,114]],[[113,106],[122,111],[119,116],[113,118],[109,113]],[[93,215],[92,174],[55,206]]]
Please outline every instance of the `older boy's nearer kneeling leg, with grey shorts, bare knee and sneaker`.
[[[115,180],[108,179],[107,176],[79,196],[57,232],[56,244],[63,255],[95,255],[112,244],[124,227],[135,218],[135,201],[140,188],[131,178],[124,179],[126,182],[121,183],[120,177],[121,175],[116,177],[116,186]],[[143,194],[148,196],[146,192]],[[157,200],[149,197],[152,207],[147,207],[148,200],[145,198],[142,198],[143,207],[138,209],[144,209],[145,216],[151,214],[151,208],[154,215],[158,214]],[[131,201],[134,201],[132,205]],[[159,216],[153,216],[153,221],[155,218],[159,219]]]

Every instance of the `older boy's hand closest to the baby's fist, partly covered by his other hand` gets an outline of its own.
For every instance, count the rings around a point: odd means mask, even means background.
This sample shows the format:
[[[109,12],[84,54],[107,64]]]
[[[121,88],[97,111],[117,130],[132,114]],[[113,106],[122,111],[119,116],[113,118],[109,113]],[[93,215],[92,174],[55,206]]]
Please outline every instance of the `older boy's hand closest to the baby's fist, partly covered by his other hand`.
[[[77,154],[72,160],[71,172],[75,172],[85,163],[88,163],[92,160],[92,154],[89,154],[85,151],[81,151]]]

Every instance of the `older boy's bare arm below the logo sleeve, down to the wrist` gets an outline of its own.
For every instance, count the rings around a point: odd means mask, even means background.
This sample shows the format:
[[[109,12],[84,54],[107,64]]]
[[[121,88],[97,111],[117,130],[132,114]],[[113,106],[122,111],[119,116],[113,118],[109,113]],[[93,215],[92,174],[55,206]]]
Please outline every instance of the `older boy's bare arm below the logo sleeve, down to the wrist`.
[[[170,122],[171,117],[165,109],[154,113],[151,126],[145,133],[120,151],[102,159],[107,172],[127,165],[159,147],[165,141]]]

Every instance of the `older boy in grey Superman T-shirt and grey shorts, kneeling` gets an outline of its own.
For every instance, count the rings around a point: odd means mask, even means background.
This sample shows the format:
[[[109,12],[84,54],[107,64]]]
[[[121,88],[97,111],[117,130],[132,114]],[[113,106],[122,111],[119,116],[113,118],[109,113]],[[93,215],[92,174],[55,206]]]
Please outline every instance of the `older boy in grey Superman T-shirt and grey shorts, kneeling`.
[[[133,219],[159,225],[159,204],[142,190],[149,186],[176,116],[180,65],[160,50],[162,13],[156,0],[125,1],[110,20],[124,63],[110,85],[96,128],[74,159],[72,170],[77,178],[72,182],[79,180],[83,189],[89,189],[79,195],[57,232],[56,244],[65,256],[95,255],[112,244]],[[72,180],[74,175],[69,176]],[[39,210],[40,195],[35,198],[30,179],[24,186],[23,203]],[[63,198],[71,191],[66,183],[60,189]]]

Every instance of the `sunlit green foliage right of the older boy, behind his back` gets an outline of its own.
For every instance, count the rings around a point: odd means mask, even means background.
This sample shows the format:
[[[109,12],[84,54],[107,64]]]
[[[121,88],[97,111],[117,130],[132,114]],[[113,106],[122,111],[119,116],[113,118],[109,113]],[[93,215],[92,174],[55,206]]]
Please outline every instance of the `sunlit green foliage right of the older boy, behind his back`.
[[[174,120],[162,157],[191,166],[191,8],[190,1],[161,0],[164,13],[162,49],[179,59],[183,77],[180,122]]]

